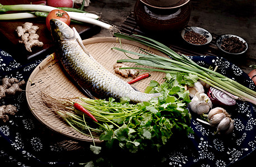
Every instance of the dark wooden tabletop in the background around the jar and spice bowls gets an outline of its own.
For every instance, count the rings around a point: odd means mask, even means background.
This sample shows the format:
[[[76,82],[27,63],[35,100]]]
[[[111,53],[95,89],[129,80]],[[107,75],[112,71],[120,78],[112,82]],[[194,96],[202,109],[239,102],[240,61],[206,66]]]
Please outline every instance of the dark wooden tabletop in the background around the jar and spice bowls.
[[[126,33],[140,33],[138,26],[132,18],[132,11],[136,0],[94,0],[86,8],[87,11],[96,11],[102,13],[102,19],[110,24],[120,26]],[[256,3],[254,0],[245,1],[190,1],[191,17],[189,26],[205,28],[214,36],[214,40],[209,47],[196,48],[186,45],[181,40],[177,32],[173,38],[163,38],[165,44],[169,45],[175,51],[183,51],[189,55],[212,55],[224,57],[230,62],[249,73],[252,68],[250,65],[256,64]],[[217,35],[234,34],[238,35],[248,42],[248,51],[240,56],[229,56],[219,51],[215,45]],[[110,36],[106,30],[102,30],[94,37]]]

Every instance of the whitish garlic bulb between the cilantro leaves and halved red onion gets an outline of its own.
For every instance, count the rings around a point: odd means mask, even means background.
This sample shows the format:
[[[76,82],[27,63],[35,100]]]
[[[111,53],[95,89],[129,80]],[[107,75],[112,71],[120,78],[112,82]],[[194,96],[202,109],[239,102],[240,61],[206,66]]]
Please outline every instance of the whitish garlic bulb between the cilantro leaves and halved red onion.
[[[196,93],[191,102],[189,102],[189,107],[193,112],[201,115],[211,109],[212,103],[206,94]]]

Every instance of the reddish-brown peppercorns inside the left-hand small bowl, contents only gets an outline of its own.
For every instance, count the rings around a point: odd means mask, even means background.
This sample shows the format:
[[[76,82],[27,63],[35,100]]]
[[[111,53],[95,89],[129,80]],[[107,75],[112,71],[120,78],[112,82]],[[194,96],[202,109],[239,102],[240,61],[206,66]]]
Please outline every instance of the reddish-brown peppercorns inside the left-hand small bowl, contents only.
[[[193,43],[196,45],[202,45],[207,42],[207,39],[205,36],[200,35],[199,33],[196,33],[194,31],[188,31],[184,34],[184,40],[186,40],[189,43]]]

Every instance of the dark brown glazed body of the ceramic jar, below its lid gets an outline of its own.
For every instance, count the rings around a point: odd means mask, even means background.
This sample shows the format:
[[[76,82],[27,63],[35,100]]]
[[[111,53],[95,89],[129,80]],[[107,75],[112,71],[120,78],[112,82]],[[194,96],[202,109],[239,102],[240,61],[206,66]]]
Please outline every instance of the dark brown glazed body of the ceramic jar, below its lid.
[[[146,1],[148,0],[138,0],[134,6],[135,21],[141,30],[166,33],[181,31],[187,26],[191,13],[188,3],[179,2],[177,6],[156,7]]]

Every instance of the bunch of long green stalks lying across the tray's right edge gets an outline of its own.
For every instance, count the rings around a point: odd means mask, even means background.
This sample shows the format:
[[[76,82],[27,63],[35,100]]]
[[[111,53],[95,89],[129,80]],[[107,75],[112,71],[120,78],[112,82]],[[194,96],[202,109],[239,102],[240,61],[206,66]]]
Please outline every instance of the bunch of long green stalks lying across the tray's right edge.
[[[139,56],[138,59],[125,59],[125,60],[118,60],[117,62],[132,62],[136,63],[136,65],[142,66],[150,66],[156,68],[140,68],[134,67],[135,69],[147,70],[147,71],[160,71],[160,72],[173,72],[173,71],[180,71],[186,73],[192,73],[197,75],[200,80],[205,81],[207,84],[219,89],[221,91],[229,92],[230,94],[234,95],[233,97],[238,97],[236,99],[249,101],[256,105],[256,92],[245,87],[238,82],[231,80],[230,78],[221,75],[220,73],[210,70],[205,67],[201,67],[197,65],[196,62],[192,61],[190,58],[184,55],[178,55],[176,52],[171,50],[169,47],[159,43],[151,38],[139,36],[139,35],[124,35],[121,33],[114,34],[118,38],[124,38],[130,41],[136,41],[151,48],[155,48],[167,56],[172,58],[167,58],[159,55],[153,55],[150,53],[145,52],[136,53],[127,50],[123,50],[122,48],[113,47],[113,49],[122,51],[125,53],[131,53],[134,55]],[[120,41],[121,42],[121,41]],[[159,70],[159,68],[161,70]]]

